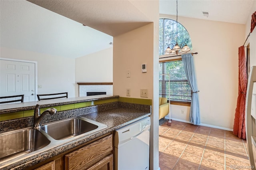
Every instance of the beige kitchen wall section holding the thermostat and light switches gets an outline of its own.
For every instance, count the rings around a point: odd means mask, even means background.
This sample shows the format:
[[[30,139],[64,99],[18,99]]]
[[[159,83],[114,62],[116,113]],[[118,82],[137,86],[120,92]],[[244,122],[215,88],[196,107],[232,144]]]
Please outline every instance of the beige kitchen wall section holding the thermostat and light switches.
[[[126,97],[126,89],[131,89],[130,97],[141,98],[140,89],[148,89],[148,99],[153,99],[152,55],[153,24],[114,37],[114,95]],[[141,72],[141,65],[144,63],[147,64],[147,73]],[[126,77],[128,70],[130,77]]]

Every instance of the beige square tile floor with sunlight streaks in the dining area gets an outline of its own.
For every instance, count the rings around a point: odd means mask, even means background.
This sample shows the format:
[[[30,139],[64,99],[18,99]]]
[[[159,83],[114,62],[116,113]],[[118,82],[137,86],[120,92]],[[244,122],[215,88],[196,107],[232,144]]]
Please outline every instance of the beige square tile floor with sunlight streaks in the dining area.
[[[249,169],[246,140],[231,131],[172,121],[159,121],[161,170]]]

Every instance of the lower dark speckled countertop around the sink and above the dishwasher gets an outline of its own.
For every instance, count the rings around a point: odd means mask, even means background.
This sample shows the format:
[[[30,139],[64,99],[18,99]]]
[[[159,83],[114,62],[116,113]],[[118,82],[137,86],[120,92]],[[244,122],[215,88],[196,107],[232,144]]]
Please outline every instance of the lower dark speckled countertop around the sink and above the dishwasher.
[[[117,108],[109,109],[106,111],[99,111],[99,112],[82,115],[82,117],[91,119],[93,121],[97,121],[99,123],[103,123],[105,125],[108,125],[108,127],[98,132],[95,132],[93,134],[89,134],[87,136],[75,139],[66,144],[62,144],[52,149],[45,150],[44,152],[41,152],[34,156],[30,156],[18,162],[13,162],[8,166],[2,167],[2,169],[3,170],[9,170],[9,169],[22,170],[24,168],[28,168],[30,166],[38,164],[39,162],[43,162],[44,160],[47,160],[53,156],[66,152],[72,148],[75,148],[81,144],[84,144],[90,140],[93,140],[94,138],[98,138],[104,134],[112,132],[118,128],[124,127],[129,123],[132,123],[134,121],[137,121],[149,115],[150,113],[148,112],[139,111],[136,109],[123,108],[123,107],[117,107]]]

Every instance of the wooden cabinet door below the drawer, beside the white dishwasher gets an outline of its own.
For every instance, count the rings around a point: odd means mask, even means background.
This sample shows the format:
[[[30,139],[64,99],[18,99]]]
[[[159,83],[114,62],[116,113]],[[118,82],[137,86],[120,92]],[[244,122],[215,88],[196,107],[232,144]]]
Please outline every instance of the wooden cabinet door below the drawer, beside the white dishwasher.
[[[100,160],[88,170],[113,170],[113,155],[107,156],[106,158]]]

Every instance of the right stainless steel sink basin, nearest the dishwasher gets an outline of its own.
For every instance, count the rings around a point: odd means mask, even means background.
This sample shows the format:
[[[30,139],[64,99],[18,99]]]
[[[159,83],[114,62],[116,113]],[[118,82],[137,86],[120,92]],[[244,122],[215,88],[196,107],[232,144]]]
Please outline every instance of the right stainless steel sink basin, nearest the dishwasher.
[[[55,140],[66,140],[80,134],[86,135],[100,130],[99,128],[102,128],[102,124],[78,117],[49,123],[41,127],[44,132]]]

